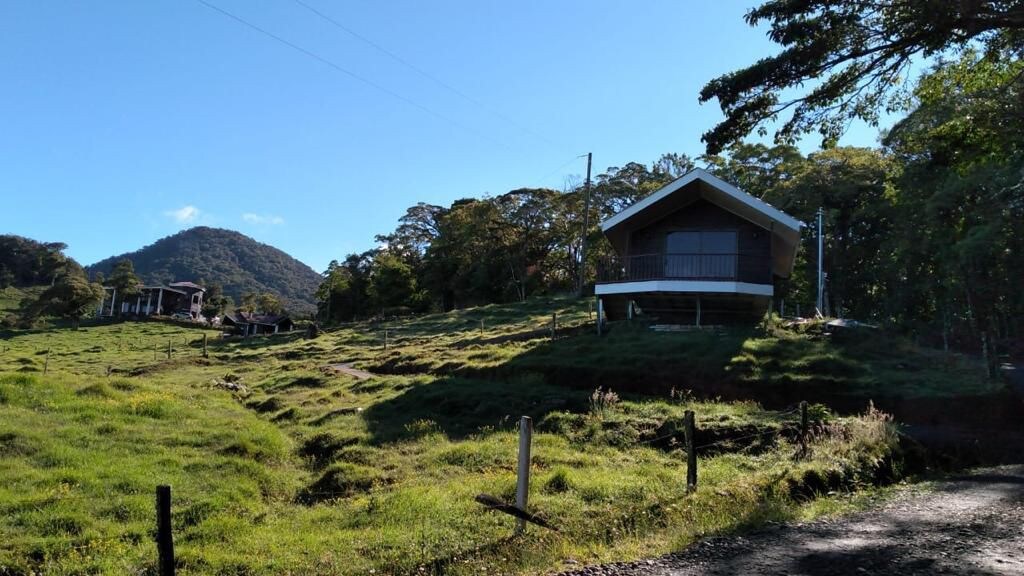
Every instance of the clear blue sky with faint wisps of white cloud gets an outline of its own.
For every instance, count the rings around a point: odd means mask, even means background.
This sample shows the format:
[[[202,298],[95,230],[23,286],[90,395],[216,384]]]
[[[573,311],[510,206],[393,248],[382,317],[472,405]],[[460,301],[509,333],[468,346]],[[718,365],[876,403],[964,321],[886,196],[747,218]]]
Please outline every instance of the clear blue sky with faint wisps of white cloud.
[[[777,49],[750,2],[302,0],[428,77],[296,0],[206,1],[330,64],[197,0],[0,3],[0,233],[91,263],[214,225],[321,271],[416,202],[697,156],[700,87]]]

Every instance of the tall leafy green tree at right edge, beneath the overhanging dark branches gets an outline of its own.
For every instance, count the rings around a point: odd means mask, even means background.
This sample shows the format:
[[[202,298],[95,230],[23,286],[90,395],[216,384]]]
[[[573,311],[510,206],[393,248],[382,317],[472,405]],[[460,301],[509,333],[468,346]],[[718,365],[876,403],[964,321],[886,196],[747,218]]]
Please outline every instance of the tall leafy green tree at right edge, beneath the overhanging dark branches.
[[[968,51],[919,82],[913,111],[886,138],[903,166],[898,239],[904,315],[957,323],[996,371],[997,335],[1024,319],[1024,63]]]

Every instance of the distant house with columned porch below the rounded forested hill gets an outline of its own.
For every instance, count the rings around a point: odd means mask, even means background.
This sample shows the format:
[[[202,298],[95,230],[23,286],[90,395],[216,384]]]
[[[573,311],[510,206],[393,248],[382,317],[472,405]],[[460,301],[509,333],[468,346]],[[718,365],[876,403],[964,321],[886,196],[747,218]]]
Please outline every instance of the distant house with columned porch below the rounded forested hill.
[[[138,293],[124,297],[116,288],[103,287],[98,315],[187,316],[198,320],[203,314],[206,289],[193,282],[171,282],[167,286],[139,286]]]

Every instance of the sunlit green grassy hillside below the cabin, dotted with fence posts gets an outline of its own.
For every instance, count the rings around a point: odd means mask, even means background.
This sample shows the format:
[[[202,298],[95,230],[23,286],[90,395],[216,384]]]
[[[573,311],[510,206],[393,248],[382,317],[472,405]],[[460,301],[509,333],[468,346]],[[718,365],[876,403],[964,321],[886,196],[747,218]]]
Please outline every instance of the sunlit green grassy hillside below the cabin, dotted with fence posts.
[[[314,340],[212,338],[210,358],[201,332],[156,323],[15,333],[0,348],[0,574],[152,570],[163,483],[183,573],[480,574],[636,558],[834,511],[851,500],[814,496],[895,474],[893,427],[877,413],[815,408],[819,431],[799,458],[788,408],[682,388],[616,399],[588,379],[615,362],[642,372],[657,351],[711,373],[715,358],[742,364],[762,349],[746,342],[769,336],[598,339],[587,322],[584,302],[538,300]],[[339,363],[391,373],[358,380]],[[685,410],[701,447],[692,494]],[[520,415],[537,427],[530,508],[558,533],[515,537],[509,518],[473,501],[513,498]]]

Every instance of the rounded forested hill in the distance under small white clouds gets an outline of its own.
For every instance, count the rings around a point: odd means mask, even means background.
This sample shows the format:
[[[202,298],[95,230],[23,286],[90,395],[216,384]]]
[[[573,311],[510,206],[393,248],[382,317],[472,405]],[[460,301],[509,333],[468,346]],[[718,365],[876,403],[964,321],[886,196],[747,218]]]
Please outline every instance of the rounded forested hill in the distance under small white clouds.
[[[241,302],[245,292],[272,292],[293,314],[316,310],[318,274],[282,250],[233,231],[189,229],[140,250],[100,260],[86,271],[110,276],[123,258],[132,261],[135,274],[147,284],[203,280],[207,285],[221,284],[236,302]]]

